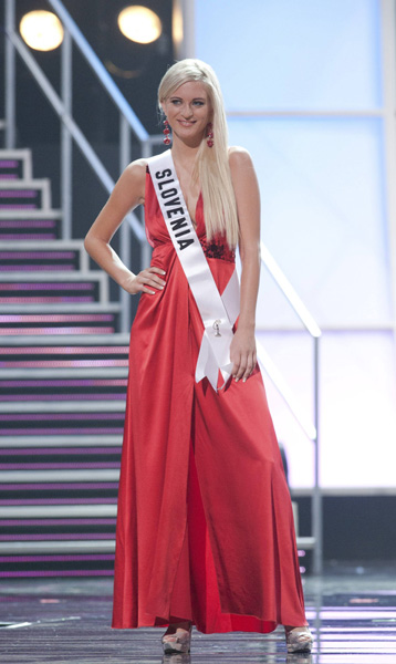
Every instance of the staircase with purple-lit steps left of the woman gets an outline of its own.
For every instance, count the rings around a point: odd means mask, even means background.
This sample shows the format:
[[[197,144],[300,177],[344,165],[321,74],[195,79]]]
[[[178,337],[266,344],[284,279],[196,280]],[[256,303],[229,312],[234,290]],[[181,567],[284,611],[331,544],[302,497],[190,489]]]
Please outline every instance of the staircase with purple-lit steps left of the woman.
[[[0,577],[113,573],[128,336],[61,237],[31,153],[0,151]]]

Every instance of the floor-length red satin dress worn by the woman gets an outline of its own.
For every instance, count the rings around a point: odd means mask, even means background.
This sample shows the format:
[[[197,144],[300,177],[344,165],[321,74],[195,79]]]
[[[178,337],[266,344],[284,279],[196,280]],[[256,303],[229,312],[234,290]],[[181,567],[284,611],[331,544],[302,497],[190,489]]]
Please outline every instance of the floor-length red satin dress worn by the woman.
[[[146,175],[152,264],[132,326],[113,627],[191,620],[200,632],[305,625],[293,517],[261,373],[195,382],[202,322]],[[220,293],[233,253],[197,234]]]

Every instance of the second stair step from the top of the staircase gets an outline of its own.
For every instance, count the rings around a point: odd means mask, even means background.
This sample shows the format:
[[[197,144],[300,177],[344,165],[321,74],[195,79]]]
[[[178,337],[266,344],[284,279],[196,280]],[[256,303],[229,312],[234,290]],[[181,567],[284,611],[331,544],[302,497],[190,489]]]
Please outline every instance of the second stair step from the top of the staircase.
[[[49,179],[0,179],[0,210],[49,210],[50,208]]]

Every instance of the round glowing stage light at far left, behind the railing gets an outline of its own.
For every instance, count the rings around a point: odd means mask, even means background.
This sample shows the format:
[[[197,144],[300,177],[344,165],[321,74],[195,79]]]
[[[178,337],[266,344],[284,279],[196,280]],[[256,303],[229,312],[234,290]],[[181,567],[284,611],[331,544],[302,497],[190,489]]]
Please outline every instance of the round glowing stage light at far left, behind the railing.
[[[22,17],[19,31],[28,46],[35,51],[53,51],[63,41],[63,27],[51,11],[30,11]]]

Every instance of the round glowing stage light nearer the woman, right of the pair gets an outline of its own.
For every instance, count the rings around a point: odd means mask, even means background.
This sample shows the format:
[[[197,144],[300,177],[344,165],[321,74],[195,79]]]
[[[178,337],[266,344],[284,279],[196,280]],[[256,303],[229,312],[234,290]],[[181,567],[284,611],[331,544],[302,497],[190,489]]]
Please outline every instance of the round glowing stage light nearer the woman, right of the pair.
[[[163,32],[159,17],[139,4],[126,7],[119,12],[118,28],[124,37],[139,44],[154,42]]]

